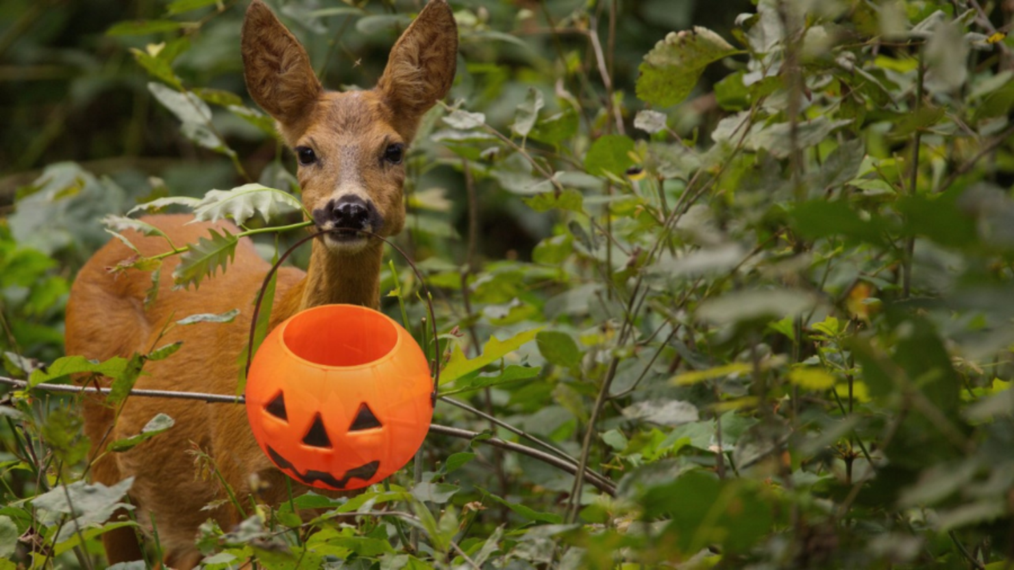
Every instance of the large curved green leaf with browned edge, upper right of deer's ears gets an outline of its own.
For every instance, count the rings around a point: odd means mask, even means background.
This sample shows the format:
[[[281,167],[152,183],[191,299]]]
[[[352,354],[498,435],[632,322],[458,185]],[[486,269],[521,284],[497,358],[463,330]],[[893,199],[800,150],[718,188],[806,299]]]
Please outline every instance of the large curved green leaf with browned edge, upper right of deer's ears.
[[[734,53],[732,46],[706,27],[673,31],[644,57],[637,96],[653,105],[674,105],[690,95],[708,64]]]

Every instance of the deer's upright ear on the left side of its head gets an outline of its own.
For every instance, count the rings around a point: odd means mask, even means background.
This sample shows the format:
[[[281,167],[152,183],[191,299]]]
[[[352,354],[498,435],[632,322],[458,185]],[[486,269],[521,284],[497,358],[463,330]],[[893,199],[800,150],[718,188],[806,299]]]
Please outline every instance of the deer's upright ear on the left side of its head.
[[[306,50],[261,0],[246,9],[242,54],[246,90],[261,108],[283,128],[308,118],[323,87]]]

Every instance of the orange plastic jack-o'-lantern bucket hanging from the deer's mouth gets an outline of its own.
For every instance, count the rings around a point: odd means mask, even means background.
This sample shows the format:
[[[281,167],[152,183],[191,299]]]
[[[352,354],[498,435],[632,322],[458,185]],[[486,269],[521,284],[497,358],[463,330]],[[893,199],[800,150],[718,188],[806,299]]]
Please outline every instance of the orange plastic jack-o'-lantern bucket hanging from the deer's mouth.
[[[404,467],[433,417],[426,355],[386,315],[352,305],[302,311],[265,338],[246,381],[264,453],[321,489],[359,489]]]

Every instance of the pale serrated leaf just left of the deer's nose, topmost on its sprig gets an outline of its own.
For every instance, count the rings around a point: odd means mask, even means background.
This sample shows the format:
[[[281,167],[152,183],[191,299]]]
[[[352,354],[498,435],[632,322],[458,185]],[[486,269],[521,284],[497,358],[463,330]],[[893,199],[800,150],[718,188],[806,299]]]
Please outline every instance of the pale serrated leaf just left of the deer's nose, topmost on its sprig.
[[[284,190],[250,183],[231,190],[209,190],[194,207],[195,221],[217,222],[231,218],[243,225],[256,214],[265,220],[302,209],[299,200]]]

